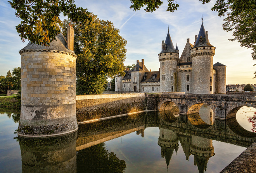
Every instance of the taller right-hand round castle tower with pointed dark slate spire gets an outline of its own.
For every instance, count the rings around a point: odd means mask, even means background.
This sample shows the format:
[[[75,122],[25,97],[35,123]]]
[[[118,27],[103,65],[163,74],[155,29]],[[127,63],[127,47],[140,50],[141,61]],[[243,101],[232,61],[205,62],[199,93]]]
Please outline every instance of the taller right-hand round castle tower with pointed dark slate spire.
[[[194,94],[213,94],[213,56],[215,47],[208,40],[202,23],[195,46],[190,49]]]

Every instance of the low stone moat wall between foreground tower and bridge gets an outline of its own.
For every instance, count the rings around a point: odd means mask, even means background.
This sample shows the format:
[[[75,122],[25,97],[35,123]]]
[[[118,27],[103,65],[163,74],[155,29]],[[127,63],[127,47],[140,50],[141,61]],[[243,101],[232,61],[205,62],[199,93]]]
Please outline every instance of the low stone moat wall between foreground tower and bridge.
[[[78,122],[144,111],[145,93],[77,95]]]

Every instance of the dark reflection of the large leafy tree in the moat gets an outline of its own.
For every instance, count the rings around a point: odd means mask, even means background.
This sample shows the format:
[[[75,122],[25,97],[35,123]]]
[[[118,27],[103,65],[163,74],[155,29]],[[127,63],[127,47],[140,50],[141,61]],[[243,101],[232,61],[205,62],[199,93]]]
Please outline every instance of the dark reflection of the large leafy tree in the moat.
[[[93,173],[123,173],[126,163],[116,157],[112,151],[106,150],[104,143],[92,146],[78,151],[77,155],[77,172]]]

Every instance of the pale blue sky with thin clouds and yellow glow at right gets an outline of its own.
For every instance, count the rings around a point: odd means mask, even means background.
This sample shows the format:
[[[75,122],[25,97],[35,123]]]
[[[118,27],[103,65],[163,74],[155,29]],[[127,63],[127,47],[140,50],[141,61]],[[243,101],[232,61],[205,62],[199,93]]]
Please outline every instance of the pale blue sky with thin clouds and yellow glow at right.
[[[216,47],[213,64],[220,62],[227,66],[227,85],[256,83],[252,50],[241,47],[237,41],[228,41],[234,37],[232,32],[223,31],[224,17],[211,11],[215,0],[206,5],[199,0],[177,0],[180,7],[174,13],[166,12],[168,3],[167,0],[163,2],[155,12],[146,13],[144,8],[136,12],[130,9],[130,0],[75,0],[77,7],[87,8],[99,19],[109,20],[119,29],[119,34],[127,41],[125,65],[144,59],[145,66],[152,71],[159,70],[158,54],[168,25],[173,44],[178,45],[181,55],[187,38],[194,44],[203,15],[209,42]],[[64,19],[61,16],[61,20]],[[6,76],[7,71],[21,66],[19,50],[28,44],[28,40],[22,42],[16,32],[16,25],[20,22],[8,2],[0,0],[0,75]]]

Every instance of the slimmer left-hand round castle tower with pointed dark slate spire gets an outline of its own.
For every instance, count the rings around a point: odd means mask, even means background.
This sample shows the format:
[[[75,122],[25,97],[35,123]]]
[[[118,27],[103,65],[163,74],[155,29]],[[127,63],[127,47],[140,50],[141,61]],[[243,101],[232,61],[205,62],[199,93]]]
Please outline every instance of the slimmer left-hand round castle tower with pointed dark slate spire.
[[[176,49],[169,33],[162,41],[162,51],[158,54],[160,61],[160,92],[177,92],[176,67],[179,59],[178,46]]]

